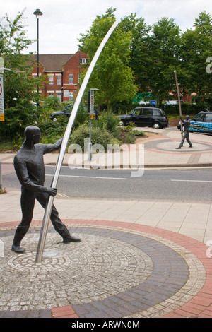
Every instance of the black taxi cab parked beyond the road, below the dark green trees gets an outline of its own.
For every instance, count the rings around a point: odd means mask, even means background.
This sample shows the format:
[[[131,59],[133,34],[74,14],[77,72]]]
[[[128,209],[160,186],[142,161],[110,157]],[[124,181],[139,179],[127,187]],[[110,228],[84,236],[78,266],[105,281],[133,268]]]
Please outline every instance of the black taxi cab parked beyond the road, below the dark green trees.
[[[132,122],[136,126],[149,126],[157,129],[165,128],[169,124],[165,112],[155,107],[136,107],[129,114],[119,115],[119,118],[121,119],[120,124],[123,126]]]

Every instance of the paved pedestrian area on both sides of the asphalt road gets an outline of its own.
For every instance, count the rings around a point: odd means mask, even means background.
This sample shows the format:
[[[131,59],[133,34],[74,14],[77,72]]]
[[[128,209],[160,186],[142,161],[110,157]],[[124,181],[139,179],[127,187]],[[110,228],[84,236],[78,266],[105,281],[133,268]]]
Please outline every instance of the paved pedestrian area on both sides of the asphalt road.
[[[152,136],[142,141],[145,167],[211,167],[212,136],[191,134],[194,148],[184,143],[179,151],[179,131],[146,130]],[[3,184],[4,174],[14,172],[13,156],[0,155]],[[57,154],[45,156],[46,165],[56,162]],[[16,254],[11,243],[21,218],[20,190],[6,189],[0,197],[1,318],[212,317],[211,198],[199,203],[58,194],[59,215],[81,242],[63,244],[49,223],[42,261],[35,263],[44,210],[35,204],[22,241],[25,254]]]

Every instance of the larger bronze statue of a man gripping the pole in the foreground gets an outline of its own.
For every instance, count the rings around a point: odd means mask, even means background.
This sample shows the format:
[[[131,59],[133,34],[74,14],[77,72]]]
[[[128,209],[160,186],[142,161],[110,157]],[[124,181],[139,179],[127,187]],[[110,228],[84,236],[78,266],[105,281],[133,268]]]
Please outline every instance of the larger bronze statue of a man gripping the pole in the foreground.
[[[30,227],[33,218],[35,199],[46,207],[49,195],[56,196],[57,189],[45,187],[45,165],[43,155],[59,150],[62,138],[54,144],[41,144],[40,129],[36,126],[25,128],[25,141],[23,146],[14,157],[14,168],[18,180],[21,184],[20,205],[22,210],[22,220],[16,229],[13,239],[12,251],[23,254],[24,249],[20,247],[20,242]],[[52,207],[50,217],[54,229],[63,238],[64,243],[80,242],[81,239],[74,237],[67,230],[64,223],[59,218],[56,208]]]

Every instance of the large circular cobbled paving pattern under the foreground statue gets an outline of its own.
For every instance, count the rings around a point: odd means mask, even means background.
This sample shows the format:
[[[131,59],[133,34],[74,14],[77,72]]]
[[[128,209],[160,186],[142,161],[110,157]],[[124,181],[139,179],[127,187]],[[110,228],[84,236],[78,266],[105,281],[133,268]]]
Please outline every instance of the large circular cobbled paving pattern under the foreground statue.
[[[23,239],[23,255],[11,251],[14,230],[0,232],[0,312],[71,306],[84,318],[163,316],[191,300],[206,280],[203,264],[188,249],[115,227],[76,225],[71,232],[82,242],[71,244],[49,227],[37,264],[37,230],[31,227]]]

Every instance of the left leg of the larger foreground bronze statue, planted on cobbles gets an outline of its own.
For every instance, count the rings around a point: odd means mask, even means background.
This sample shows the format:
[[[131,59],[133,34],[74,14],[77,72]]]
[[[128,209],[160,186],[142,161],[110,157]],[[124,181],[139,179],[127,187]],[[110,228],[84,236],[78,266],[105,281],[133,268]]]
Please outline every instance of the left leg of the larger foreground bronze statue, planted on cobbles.
[[[35,206],[34,194],[28,190],[22,189],[20,205],[22,210],[22,220],[18,225],[13,238],[12,251],[15,251],[18,254],[23,254],[25,250],[20,247],[20,242],[28,232],[33,218],[33,209]]]

